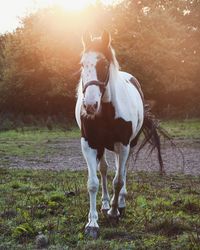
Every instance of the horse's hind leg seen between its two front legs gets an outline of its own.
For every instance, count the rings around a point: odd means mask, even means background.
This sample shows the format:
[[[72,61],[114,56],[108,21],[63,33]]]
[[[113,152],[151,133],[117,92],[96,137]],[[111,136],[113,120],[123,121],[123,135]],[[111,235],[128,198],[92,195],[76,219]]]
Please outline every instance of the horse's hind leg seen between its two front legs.
[[[107,214],[107,211],[110,209],[110,197],[107,188],[107,169],[108,164],[105,157],[103,156],[99,163],[99,170],[101,173],[101,182],[102,182],[102,206],[101,211],[104,214]]]

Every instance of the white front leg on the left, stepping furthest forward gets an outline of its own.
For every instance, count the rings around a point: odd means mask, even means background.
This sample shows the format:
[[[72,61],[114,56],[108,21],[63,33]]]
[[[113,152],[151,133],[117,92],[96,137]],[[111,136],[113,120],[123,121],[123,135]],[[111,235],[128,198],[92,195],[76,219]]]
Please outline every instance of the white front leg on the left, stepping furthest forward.
[[[81,147],[88,166],[87,188],[90,196],[90,211],[88,214],[88,223],[85,227],[85,233],[96,239],[99,232],[99,225],[97,223],[98,213],[96,210],[96,195],[99,188],[99,180],[97,178],[97,151],[90,148],[88,142],[85,141],[84,138],[81,138]]]

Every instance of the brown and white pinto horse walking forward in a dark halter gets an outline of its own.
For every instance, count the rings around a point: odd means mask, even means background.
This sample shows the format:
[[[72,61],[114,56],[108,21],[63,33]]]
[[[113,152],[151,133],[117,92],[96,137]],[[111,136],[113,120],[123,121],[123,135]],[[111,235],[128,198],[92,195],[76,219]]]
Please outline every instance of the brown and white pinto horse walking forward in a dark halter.
[[[146,141],[154,138],[161,165],[162,158],[157,127],[150,116],[145,116],[147,112],[140,84],[133,75],[120,71],[110,33],[104,31],[101,37],[92,38],[86,32],[82,43],[84,49],[75,117],[81,130],[81,148],[88,167],[90,210],[85,233],[95,239],[99,234],[97,169],[102,181],[101,211],[109,220],[117,222],[126,207],[126,163],[141,131]],[[107,189],[106,150],[114,152],[116,164],[111,200]]]

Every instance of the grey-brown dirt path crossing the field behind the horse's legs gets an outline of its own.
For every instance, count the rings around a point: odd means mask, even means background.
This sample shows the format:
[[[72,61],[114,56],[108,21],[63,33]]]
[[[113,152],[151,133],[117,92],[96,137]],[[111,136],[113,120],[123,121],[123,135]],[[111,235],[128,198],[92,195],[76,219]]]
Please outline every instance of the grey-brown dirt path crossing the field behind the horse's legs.
[[[178,148],[184,155],[184,164],[181,153],[170,145],[163,147],[163,159],[166,172],[182,172],[185,174],[200,175],[200,140],[176,140]],[[87,169],[82,157],[79,139],[54,140],[46,142],[46,154],[42,157],[4,157],[1,166],[33,169]],[[54,152],[54,153],[51,153]],[[157,171],[159,169],[156,152],[148,156],[148,148],[144,148],[137,159],[134,156],[128,162],[129,170]],[[111,169],[114,169],[113,153],[107,153],[107,159]]]

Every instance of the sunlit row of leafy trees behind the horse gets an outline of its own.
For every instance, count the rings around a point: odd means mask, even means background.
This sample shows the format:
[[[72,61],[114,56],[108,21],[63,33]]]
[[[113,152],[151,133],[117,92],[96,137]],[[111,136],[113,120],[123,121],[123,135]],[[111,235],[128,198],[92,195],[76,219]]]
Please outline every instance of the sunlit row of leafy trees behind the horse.
[[[39,10],[0,36],[0,112],[73,117],[81,35],[110,31],[121,68],[161,116],[200,115],[200,1],[125,0]]]

